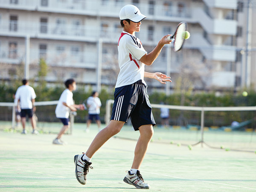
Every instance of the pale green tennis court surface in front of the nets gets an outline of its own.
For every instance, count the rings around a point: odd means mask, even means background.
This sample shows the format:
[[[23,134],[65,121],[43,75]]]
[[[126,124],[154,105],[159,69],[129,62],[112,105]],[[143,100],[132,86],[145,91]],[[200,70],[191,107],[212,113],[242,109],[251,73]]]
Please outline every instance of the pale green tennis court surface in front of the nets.
[[[157,141],[150,143],[140,168],[151,189],[124,183],[139,137],[128,126],[93,156],[87,184],[81,185],[75,177],[73,158],[87,150],[98,132],[95,125],[90,133],[85,127],[75,124],[72,135],[63,137],[67,145],[53,145],[55,134],[32,135],[28,130],[22,135],[1,130],[0,192],[256,192],[255,153],[201,145],[189,150],[187,145]],[[165,135],[164,129],[161,132]],[[124,136],[130,139],[120,139]]]

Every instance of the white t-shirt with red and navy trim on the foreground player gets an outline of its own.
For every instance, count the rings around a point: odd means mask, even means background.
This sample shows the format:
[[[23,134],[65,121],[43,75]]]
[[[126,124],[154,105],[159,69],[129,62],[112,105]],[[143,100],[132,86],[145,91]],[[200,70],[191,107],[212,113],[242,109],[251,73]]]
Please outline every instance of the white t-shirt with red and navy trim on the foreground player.
[[[144,81],[145,64],[140,58],[147,52],[140,39],[128,32],[122,32],[118,42],[118,62],[120,72],[117,77],[116,87],[133,84],[138,80]]]

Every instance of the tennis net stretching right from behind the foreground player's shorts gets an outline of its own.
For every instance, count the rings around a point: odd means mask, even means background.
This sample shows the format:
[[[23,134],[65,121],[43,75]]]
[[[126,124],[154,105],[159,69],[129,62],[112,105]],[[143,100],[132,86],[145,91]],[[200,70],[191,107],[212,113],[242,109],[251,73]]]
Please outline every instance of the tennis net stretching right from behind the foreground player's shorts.
[[[106,124],[111,119],[113,100],[106,104]],[[194,107],[151,104],[154,119],[154,136],[151,141],[208,146],[226,151],[256,153],[256,106],[245,107]],[[169,109],[169,125],[162,126],[160,108]],[[128,122],[129,123],[129,122]],[[132,139],[126,132],[119,138]]]

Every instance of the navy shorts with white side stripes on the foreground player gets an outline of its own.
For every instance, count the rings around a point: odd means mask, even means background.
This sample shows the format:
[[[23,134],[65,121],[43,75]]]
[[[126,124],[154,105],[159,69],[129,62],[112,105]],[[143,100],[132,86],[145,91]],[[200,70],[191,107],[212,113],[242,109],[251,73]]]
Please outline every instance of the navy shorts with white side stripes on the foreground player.
[[[115,89],[111,120],[127,122],[129,117],[135,131],[141,125],[156,125],[142,80]]]

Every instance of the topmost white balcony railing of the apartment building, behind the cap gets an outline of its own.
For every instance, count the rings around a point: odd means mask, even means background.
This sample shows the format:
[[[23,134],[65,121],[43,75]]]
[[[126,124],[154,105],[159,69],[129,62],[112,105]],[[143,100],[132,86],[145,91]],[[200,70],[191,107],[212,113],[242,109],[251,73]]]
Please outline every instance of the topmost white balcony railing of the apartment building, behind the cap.
[[[102,1],[102,0],[18,0],[11,3],[9,0],[0,0],[0,8],[37,10],[79,15],[105,15],[118,17],[120,9],[130,1]],[[146,16],[154,17],[191,17],[191,11],[185,6],[178,7],[167,4],[138,3],[140,11]]]

